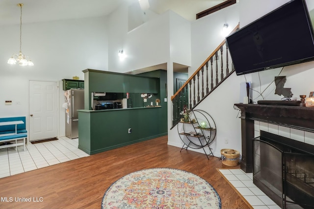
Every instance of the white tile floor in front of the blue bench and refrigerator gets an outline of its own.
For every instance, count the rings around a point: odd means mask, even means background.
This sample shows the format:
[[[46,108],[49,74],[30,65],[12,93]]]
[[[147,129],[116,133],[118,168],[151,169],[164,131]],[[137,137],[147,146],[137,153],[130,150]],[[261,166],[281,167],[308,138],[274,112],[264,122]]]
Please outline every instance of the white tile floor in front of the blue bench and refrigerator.
[[[59,137],[58,140],[28,143],[0,149],[0,178],[89,156],[78,149],[78,139]]]

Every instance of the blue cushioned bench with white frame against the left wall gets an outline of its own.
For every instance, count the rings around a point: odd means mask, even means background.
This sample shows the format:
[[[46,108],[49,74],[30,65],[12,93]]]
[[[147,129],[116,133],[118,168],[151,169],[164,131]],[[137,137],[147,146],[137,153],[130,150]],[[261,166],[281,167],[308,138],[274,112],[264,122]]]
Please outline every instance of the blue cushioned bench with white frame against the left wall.
[[[7,147],[16,147],[24,145],[25,149],[25,141],[27,138],[27,130],[26,130],[26,116],[20,117],[2,117],[0,118],[1,122],[12,122],[12,121],[23,121],[23,124],[10,124],[10,125],[0,125],[0,149]],[[3,123],[2,123],[3,124]],[[20,142],[23,139],[23,142]],[[14,142],[5,144],[5,142]],[[5,145],[1,145],[5,144]]]

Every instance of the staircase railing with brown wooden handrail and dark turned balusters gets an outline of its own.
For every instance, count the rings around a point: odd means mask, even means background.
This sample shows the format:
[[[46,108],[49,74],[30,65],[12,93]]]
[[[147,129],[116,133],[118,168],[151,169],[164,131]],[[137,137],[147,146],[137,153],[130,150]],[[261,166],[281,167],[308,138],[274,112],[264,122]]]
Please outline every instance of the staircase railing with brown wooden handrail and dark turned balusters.
[[[232,32],[238,29],[239,24]],[[184,85],[171,96],[173,105],[172,128],[180,121],[180,113],[184,107],[193,110],[235,71],[232,63],[231,70],[229,70],[231,57],[228,52],[228,46],[226,46],[226,40],[224,40],[191,77],[186,80]]]

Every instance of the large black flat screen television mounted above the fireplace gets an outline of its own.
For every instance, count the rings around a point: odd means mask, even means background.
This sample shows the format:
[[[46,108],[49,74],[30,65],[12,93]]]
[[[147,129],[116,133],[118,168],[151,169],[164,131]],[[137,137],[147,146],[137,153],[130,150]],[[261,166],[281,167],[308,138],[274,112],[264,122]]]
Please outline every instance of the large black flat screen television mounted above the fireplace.
[[[291,0],[226,37],[237,75],[314,60],[305,0]]]

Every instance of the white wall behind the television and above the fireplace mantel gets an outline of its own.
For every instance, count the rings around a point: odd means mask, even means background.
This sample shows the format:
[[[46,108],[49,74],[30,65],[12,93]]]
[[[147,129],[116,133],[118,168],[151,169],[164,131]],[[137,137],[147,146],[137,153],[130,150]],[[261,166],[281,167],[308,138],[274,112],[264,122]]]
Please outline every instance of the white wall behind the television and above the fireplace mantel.
[[[256,19],[264,16],[265,14],[271,12],[277,7],[285,4],[289,0],[241,0],[240,1],[240,26],[255,21]],[[309,11],[314,9],[314,2],[311,0],[306,0]],[[260,72],[251,73],[245,76],[248,81],[251,81],[253,91],[253,100],[279,100],[283,95],[275,94],[275,84],[274,82],[268,87],[268,85],[274,80],[275,76],[278,76],[282,68],[264,70]],[[293,96],[296,96],[300,100],[299,95],[305,94],[309,95],[314,89],[314,84],[311,82],[311,77],[314,75],[314,62],[308,62],[298,65],[292,65],[284,67],[280,76],[287,76],[287,82],[285,83],[285,88],[291,88]],[[260,83],[261,78],[261,83]],[[266,89],[267,88],[267,89]],[[265,90],[266,89],[266,90]],[[262,93],[263,97],[259,93]]]

